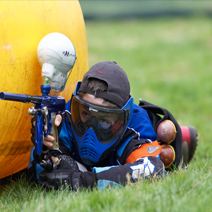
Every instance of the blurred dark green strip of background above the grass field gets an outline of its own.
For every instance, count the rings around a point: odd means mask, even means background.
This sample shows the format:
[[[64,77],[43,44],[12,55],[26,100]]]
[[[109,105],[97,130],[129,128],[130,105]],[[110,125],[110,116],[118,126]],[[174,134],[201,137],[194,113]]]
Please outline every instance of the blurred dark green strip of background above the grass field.
[[[84,19],[212,16],[212,1],[204,0],[79,0]]]

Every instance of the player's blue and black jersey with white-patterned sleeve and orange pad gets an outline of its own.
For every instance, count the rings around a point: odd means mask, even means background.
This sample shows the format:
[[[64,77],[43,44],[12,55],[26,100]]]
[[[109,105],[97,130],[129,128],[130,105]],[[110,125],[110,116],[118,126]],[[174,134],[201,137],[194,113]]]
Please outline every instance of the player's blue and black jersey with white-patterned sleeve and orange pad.
[[[71,116],[70,103],[69,101],[65,108],[68,116]],[[59,134],[60,150],[62,154],[69,155],[77,162],[82,163],[73,139],[70,122],[68,122],[67,116],[63,116]],[[111,183],[114,185],[125,184],[128,180],[127,174],[130,174],[133,181],[139,179],[141,175],[144,177],[155,174],[163,175],[165,169],[159,159],[160,151],[156,151],[157,154],[149,154],[147,151],[147,153],[143,153],[145,152],[143,149],[148,149],[149,145],[152,149],[158,150],[158,144],[152,145],[156,140],[157,135],[147,111],[134,104],[133,117],[118,146],[95,167],[86,166],[86,168],[88,171],[96,173],[97,184],[100,188],[107,187]],[[33,153],[31,154],[32,161]],[[35,169],[36,178],[39,179],[39,172],[43,169],[38,164]]]

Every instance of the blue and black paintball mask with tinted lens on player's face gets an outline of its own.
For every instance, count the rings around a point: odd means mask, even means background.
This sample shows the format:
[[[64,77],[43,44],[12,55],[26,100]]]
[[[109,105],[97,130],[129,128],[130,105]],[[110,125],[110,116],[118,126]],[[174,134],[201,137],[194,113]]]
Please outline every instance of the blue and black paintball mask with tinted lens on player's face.
[[[71,99],[71,128],[79,156],[94,166],[118,145],[132,116],[133,98],[121,109],[97,106],[79,95]]]

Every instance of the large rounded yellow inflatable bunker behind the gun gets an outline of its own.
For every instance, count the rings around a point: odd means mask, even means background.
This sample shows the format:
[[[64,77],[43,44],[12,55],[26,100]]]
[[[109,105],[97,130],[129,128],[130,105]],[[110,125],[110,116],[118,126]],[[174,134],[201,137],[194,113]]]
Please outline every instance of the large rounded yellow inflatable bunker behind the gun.
[[[77,60],[65,90],[66,101],[88,69],[85,24],[78,1],[0,1],[0,91],[41,95],[37,59],[40,40],[60,32],[73,42]],[[33,148],[32,104],[0,100],[0,179],[27,167]]]

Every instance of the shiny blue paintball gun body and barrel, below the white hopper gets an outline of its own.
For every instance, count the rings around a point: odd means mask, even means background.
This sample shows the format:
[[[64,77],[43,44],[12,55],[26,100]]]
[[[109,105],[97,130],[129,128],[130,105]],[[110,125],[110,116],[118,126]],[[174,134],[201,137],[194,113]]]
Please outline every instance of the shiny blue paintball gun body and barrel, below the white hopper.
[[[55,142],[50,150],[59,150],[59,140],[57,128],[54,125],[56,114],[63,111],[65,108],[65,99],[60,96],[48,96],[51,87],[49,85],[41,85],[42,96],[30,96],[26,94],[14,94],[1,92],[0,99],[33,103],[34,107],[29,108],[29,114],[36,117],[35,127],[35,153],[38,160],[41,162],[43,138],[49,133],[54,136]],[[47,125],[47,131],[44,126]]]

